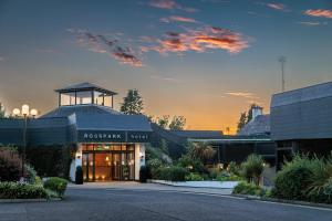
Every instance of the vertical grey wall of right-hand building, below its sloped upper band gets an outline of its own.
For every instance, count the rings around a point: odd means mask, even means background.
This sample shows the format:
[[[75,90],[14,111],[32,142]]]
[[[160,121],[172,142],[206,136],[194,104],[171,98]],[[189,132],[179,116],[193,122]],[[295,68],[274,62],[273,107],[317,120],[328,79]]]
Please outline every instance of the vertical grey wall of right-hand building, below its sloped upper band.
[[[280,99],[278,95],[277,99]],[[271,136],[274,140],[332,138],[332,96],[274,105],[271,101]]]

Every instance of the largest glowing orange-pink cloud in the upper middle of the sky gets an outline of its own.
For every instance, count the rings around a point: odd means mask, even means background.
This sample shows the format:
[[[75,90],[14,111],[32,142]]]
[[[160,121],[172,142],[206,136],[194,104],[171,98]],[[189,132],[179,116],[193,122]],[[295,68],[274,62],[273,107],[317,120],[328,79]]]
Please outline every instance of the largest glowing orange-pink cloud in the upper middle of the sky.
[[[183,33],[167,32],[155,43],[156,45],[146,46],[145,50],[157,51],[162,54],[168,52],[181,54],[187,51],[207,52],[218,49],[229,53],[239,53],[249,46],[248,41],[240,33],[216,27],[205,27],[199,30],[187,29]]]

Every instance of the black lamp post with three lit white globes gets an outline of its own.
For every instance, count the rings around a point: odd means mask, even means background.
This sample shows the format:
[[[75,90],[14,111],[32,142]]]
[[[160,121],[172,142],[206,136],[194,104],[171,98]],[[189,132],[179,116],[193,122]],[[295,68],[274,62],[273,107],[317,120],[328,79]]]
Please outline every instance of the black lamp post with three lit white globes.
[[[38,110],[37,109],[31,109],[30,110],[30,107],[28,104],[24,104],[22,105],[22,108],[21,110],[19,108],[14,108],[12,110],[12,114],[18,117],[20,116],[23,116],[23,150],[22,150],[22,169],[21,169],[21,181],[24,181],[24,164],[25,164],[25,150],[27,150],[27,129],[28,129],[28,118],[30,116],[32,116],[32,118],[34,118],[38,114]]]

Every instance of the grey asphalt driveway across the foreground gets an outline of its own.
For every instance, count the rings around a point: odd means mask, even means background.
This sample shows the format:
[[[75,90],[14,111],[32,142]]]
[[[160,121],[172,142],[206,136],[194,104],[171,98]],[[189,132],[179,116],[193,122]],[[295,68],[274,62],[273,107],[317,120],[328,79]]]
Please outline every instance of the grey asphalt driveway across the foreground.
[[[176,192],[151,185],[70,187],[64,201],[2,203],[2,221],[331,221],[332,210]],[[151,186],[151,187],[149,187]]]

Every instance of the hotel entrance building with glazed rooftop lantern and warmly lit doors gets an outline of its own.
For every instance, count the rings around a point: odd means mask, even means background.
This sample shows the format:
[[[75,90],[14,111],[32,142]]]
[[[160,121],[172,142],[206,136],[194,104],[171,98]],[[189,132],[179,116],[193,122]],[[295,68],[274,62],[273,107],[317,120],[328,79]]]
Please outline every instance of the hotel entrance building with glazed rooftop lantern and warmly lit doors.
[[[124,115],[113,108],[116,93],[82,83],[56,90],[59,107],[27,123],[0,119],[0,144],[39,147],[74,145],[70,178],[82,166],[84,181],[138,180],[145,165],[151,123],[143,115]]]

